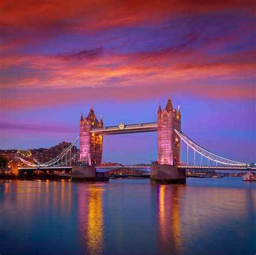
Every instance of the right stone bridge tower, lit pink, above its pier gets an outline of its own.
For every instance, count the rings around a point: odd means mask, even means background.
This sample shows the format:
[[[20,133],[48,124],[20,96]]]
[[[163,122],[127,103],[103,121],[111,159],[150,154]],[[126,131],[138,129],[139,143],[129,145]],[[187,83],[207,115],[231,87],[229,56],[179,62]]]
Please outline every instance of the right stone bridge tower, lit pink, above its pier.
[[[159,164],[173,165],[180,162],[180,140],[173,128],[180,130],[181,115],[172,107],[172,101],[169,98],[167,105],[162,111],[161,106],[157,112],[157,131],[158,131],[158,162]]]

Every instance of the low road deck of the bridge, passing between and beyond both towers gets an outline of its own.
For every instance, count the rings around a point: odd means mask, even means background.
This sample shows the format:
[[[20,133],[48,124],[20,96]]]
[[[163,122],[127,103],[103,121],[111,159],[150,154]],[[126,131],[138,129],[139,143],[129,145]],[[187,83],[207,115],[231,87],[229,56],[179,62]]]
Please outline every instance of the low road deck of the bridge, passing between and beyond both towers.
[[[97,173],[104,173],[111,170],[117,169],[137,169],[141,171],[146,171],[150,173],[152,165],[113,165],[113,166],[96,166]],[[256,171],[256,167],[248,168],[247,166],[192,166],[192,165],[181,165],[177,166],[178,169],[204,169],[204,170],[243,170],[243,171]],[[72,167],[29,167],[29,168],[19,168],[23,171],[31,170],[71,170]]]

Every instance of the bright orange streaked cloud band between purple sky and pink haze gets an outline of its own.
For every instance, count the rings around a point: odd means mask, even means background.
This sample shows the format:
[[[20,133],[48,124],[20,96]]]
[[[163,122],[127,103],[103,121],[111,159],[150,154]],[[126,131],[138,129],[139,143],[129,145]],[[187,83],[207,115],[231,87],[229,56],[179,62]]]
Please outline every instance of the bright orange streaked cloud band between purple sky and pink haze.
[[[216,82],[255,77],[255,51],[231,54],[208,54],[192,49],[189,43],[164,50],[137,53],[104,53],[83,50],[52,56],[9,56],[0,64],[9,71],[0,78],[2,88],[71,88],[154,86],[198,79],[215,78]],[[64,61],[65,59],[65,61]],[[90,61],[68,61],[89,59]],[[26,67],[24,70],[23,68]],[[21,68],[21,71],[18,71]],[[211,85],[208,85],[209,87]],[[188,89],[190,92],[193,88]],[[211,89],[211,88],[209,88]]]

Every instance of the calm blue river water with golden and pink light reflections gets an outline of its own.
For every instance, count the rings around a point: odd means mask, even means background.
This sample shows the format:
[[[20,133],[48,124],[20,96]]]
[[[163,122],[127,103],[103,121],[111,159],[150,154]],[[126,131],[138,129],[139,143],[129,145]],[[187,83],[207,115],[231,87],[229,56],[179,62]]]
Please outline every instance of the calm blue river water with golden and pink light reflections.
[[[0,181],[0,254],[255,254],[255,182]]]

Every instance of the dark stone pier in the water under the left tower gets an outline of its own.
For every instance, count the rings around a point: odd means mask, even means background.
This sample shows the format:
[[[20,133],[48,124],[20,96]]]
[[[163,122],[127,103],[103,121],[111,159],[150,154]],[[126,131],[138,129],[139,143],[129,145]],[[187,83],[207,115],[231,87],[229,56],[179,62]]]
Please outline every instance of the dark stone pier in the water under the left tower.
[[[81,182],[109,181],[109,174],[96,173],[94,166],[73,166],[71,179]]]

